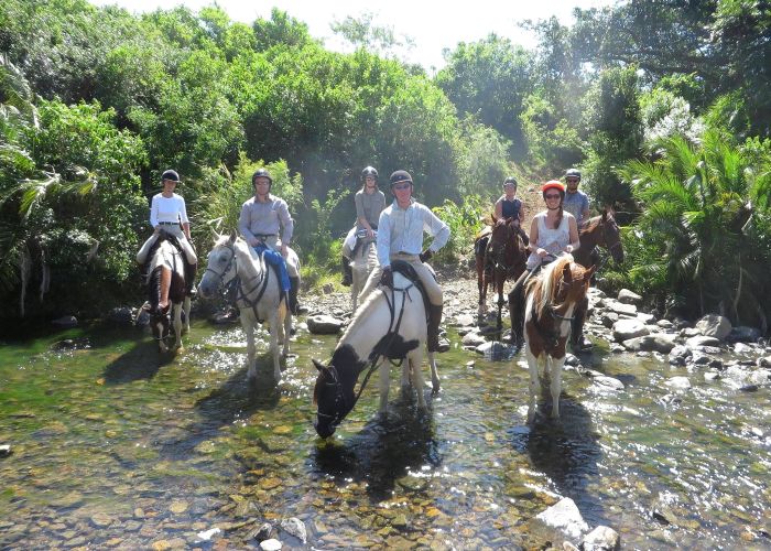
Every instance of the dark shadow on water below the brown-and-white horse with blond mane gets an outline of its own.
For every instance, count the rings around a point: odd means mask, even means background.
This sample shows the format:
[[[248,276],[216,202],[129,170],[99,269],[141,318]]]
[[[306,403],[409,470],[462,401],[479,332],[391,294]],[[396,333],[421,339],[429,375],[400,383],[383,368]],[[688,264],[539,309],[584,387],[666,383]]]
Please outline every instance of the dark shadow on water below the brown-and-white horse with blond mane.
[[[588,486],[599,477],[599,434],[591,415],[580,403],[563,393],[560,421],[549,419],[551,399],[541,403],[532,426],[511,429],[512,446],[525,453],[534,469],[544,473],[563,496],[573,499],[590,525],[605,521],[602,505]]]

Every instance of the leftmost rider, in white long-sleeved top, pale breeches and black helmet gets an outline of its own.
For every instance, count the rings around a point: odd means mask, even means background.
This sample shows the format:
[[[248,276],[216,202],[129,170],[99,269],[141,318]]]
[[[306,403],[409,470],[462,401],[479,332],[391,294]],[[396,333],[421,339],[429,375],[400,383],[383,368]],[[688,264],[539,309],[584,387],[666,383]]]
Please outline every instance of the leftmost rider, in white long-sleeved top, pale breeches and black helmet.
[[[191,222],[187,218],[187,209],[185,208],[185,198],[182,195],[174,193],[176,184],[180,183],[180,175],[176,171],[167,170],[161,175],[163,192],[153,196],[150,206],[150,225],[153,227],[153,235],[144,241],[144,245],[137,252],[137,262],[144,264],[148,260],[150,248],[158,240],[161,229],[176,237],[176,240],[185,255],[185,292],[188,296],[195,294],[193,283],[195,282],[195,272],[198,258],[195,255],[191,240]],[[169,273],[171,280],[171,273]],[[165,296],[161,296],[159,309],[165,310],[169,305],[169,288],[167,284],[161,285],[165,289]]]

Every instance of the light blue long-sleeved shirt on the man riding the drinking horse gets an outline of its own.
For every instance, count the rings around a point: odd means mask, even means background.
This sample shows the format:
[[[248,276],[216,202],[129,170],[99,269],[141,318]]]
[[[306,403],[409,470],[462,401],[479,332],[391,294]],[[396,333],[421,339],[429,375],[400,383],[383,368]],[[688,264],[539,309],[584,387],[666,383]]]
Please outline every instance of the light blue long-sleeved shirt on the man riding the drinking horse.
[[[391,266],[391,256],[399,252],[420,255],[423,250],[423,231],[434,239],[428,250],[436,252],[447,244],[449,227],[431,209],[411,199],[401,208],[394,199],[382,213],[378,223],[378,261],[381,267]]]

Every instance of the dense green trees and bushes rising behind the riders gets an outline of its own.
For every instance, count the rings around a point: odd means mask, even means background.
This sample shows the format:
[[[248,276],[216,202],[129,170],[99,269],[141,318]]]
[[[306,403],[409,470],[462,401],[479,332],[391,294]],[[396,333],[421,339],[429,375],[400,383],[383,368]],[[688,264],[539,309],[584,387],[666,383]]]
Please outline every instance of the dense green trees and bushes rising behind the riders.
[[[307,282],[330,280],[362,166],[406,169],[470,238],[508,173],[568,166],[627,225],[615,285],[686,315],[763,324],[771,250],[771,18],[760,0],[626,2],[490,34],[434,78],[371,14],[326,51],[274,10],[135,17],[85,0],[0,0],[0,296],[7,321],[96,315],[139,293],[148,201],[180,172],[199,252],[236,227],[258,166],[296,220]],[[741,224],[739,224],[741,223]],[[725,284],[724,284],[725,283]],[[86,295],[87,293],[87,295]],[[763,310],[764,309],[764,310]]]

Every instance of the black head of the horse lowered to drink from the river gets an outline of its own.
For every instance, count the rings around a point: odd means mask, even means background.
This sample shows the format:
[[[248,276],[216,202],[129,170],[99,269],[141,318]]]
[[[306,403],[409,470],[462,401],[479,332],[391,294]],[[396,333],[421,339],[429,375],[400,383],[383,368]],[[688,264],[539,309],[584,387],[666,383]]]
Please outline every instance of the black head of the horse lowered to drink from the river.
[[[335,429],[352,409],[354,387],[341,379],[337,368],[329,364],[313,360],[318,369],[316,386],[313,389],[313,403],[316,404],[316,421],[313,426],[323,439],[332,436]]]

